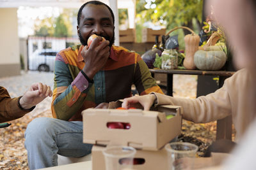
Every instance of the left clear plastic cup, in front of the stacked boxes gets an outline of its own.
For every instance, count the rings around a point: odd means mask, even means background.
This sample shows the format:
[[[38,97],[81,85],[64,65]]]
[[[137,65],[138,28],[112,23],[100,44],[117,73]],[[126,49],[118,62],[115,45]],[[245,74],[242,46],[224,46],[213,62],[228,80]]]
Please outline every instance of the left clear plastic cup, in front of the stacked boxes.
[[[131,146],[108,146],[103,151],[106,170],[132,169],[135,153]]]

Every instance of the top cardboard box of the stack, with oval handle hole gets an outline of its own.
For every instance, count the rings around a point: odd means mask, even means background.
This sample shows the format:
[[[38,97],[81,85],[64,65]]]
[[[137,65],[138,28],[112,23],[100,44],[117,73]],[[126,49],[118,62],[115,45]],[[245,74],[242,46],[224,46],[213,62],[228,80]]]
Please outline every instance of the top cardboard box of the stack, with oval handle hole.
[[[110,103],[110,109],[87,109],[83,115],[83,142],[106,146],[117,144],[142,150],[159,150],[181,132],[180,106],[157,106],[152,111],[115,110],[121,102]],[[136,106],[140,108],[140,106]],[[173,115],[172,118],[166,118]],[[111,123],[128,125],[110,129]]]

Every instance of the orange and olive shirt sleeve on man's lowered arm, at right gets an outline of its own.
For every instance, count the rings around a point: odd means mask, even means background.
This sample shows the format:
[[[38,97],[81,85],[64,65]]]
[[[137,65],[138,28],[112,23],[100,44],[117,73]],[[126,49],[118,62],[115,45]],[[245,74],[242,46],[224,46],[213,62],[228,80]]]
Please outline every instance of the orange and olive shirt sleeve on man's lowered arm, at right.
[[[135,69],[134,69],[134,85],[140,95],[150,94],[150,92],[157,92],[163,94],[160,87],[156,84],[156,80],[152,78],[147,64],[141,59],[140,55],[135,55]]]

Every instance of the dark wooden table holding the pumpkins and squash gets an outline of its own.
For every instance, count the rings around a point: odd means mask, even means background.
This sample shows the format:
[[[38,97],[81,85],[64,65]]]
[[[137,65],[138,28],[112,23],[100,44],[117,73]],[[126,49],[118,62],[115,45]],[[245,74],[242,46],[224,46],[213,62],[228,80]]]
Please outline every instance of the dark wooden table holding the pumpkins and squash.
[[[149,69],[154,73],[167,74],[167,95],[173,96],[173,74],[189,74],[202,76],[219,76],[219,89],[223,86],[225,79],[232,76],[234,71],[200,71],[200,70],[182,70],[182,69]],[[232,116],[217,120],[216,139],[232,140]]]

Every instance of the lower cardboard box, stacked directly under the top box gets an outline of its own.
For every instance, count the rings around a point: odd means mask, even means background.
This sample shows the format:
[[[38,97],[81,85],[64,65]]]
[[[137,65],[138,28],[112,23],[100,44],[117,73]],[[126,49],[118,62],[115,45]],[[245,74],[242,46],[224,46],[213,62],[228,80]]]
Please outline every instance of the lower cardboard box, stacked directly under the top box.
[[[102,151],[105,147],[92,147],[92,170],[105,170],[105,159]],[[143,164],[137,164],[132,167],[136,170],[167,170],[168,169],[168,153],[164,148],[158,151],[137,150],[134,159],[140,159]]]

